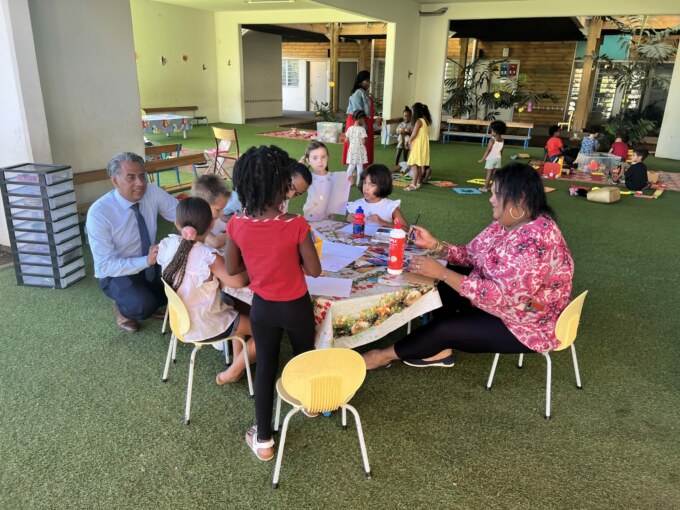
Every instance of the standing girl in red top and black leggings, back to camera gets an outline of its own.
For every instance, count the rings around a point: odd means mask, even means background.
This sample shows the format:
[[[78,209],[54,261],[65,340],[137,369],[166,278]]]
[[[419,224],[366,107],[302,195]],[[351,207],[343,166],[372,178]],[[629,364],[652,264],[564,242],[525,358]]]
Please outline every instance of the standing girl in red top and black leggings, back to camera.
[[[283,332],[293,354],[314,348],[314,310],[304,273],[319,276],[321,263],[305,219],[280,212],[294,163],[278,147],[248,149],[234,167],[234,186],[244,211],[227,225],[227,272],[238,274],[247,268],[254,293],[250,322],[253,335],[259,335],[257,426],[248,429],[246,442],[260,460],[274,458],[272,405]]]

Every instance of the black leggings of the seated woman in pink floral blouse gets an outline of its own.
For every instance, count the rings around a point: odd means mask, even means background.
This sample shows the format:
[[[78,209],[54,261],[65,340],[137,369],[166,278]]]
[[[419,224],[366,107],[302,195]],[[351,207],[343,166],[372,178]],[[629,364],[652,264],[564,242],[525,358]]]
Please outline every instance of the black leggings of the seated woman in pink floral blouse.
[[[468,274],[470,268],[449,266]],[[399,359],[423,359],[444,349],[463,352],[500,352],[505,354],[534,352],[515,338],[498,317],[475,308],[445,283],[438,286],[442,307],[433,312],[433,320],[394,344]]]

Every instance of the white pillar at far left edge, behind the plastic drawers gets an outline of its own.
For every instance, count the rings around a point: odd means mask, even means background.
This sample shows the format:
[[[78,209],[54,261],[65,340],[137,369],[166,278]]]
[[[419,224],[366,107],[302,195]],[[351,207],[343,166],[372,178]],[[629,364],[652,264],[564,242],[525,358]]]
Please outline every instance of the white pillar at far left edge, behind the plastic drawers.
[[[0,0],[0,167],[51,163],[28,0]],[[9,245],[0,207],[0,245]]]

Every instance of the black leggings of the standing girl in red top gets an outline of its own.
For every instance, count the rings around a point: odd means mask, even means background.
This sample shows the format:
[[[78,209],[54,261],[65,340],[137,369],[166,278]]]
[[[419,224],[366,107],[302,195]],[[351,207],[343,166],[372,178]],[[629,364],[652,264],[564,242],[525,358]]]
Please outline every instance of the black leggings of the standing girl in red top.
[[[250,311],[250,326],[253,330],[257,353],[255,372],[255,416],[257,418],[258,441],[272,437],[272,407],[276,374],[279,370],[279,351],[283,332],[297,356],[314,349],[314,308],[309,294],[292,301],[267,301],[253,295]]]

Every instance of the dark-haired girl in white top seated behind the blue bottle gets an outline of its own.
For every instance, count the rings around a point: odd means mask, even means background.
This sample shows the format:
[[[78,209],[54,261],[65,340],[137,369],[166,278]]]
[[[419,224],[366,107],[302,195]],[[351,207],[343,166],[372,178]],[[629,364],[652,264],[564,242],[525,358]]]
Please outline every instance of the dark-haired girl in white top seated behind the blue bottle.
[[[347,204],[347,221],[354,222],[354,213],[361,206],[369,223],[394,227],[394,220],[399,219],[401,227],[404,230],[409,229],[399,208],[401,200],[387,198],[392,193],[392,174],[385,165],[371,165],[364,170],[359,181],[359,191],[364,197]]]

